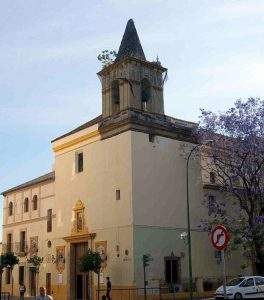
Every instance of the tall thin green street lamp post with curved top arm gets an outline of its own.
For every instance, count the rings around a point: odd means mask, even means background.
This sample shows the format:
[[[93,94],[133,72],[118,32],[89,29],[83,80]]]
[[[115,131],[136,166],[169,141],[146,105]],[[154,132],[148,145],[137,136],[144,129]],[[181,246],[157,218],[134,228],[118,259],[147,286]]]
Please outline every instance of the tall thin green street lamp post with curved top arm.
[[[190,300],[193,299],[193,277],[192,277],[192,239],[191,239],[191,225],[190,225],[190,203],[189,203],[189,161],[193,152],[200,146],[206,145],[211,141],[205,141],[203,144],[197,144],[190,151],[186,162],[186,203],[187,203],[187,241],[188,241],[188,258],[189,258],[189,289]]]

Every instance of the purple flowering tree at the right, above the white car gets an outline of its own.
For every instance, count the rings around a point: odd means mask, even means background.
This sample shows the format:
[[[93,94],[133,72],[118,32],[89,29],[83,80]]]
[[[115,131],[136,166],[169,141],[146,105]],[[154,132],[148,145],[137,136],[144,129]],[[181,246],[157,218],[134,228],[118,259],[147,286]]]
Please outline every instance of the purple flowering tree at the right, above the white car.
[[[224,224],[232,235],[230,249],[242,249],[254,274],[264,274],[264,101],[237,100],[215,114],[202,110],[200,141],[211,140],[202,153],[203,172],[215,177],[211,188],[221,197],[206,197],[204,229]]]

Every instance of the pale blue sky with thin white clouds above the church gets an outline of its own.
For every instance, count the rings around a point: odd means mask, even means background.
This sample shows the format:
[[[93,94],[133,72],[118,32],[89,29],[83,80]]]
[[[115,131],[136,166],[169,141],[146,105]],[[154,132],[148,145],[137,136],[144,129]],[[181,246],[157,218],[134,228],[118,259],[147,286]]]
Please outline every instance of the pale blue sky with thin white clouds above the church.
[[[168,68],[167,115],[263,98],[263,0],[1,0],[0,191],[49,172],[50,141],[101,114],[97,56],[130,18]]]

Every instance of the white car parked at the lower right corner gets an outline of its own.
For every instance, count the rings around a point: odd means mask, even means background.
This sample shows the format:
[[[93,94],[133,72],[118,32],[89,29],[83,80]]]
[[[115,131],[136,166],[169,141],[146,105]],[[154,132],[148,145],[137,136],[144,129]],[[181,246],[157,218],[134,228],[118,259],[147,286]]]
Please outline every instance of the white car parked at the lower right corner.
[[[264,277],[244,276],[230,280],[226,284],[227,299],[264,299]],[[215,292],[215,299],[224,299],[224,288],[220,286]]]

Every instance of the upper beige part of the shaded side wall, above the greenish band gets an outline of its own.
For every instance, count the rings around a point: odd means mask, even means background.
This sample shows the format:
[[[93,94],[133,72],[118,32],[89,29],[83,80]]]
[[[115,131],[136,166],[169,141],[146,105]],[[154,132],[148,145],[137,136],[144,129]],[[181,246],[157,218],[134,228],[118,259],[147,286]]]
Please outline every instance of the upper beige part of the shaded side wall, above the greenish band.
[[[134,224],[186,227],[186,154],[183,144],[160,136],[151,143],[148,134],[133,132]],[[190,162],[189,174],[191,226],[194,228],[203,212],[198,158]]]

